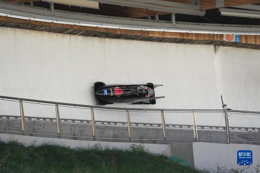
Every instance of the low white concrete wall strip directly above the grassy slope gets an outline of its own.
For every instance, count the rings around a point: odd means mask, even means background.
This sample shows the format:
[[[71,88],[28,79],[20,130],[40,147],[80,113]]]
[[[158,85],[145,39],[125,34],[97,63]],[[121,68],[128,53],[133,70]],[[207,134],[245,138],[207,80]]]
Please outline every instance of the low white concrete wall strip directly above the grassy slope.
[[[47,138],[47,137],[34,137],[34,136],[22,136],[22,135],[11,135],[11,134],[0,134],[0,139],[3,141],[18,141],[25,145],[41,145],[43,143],[55,143],[59,145],[75,147],[93,147],[95,144],[101,144],[103,149],[105,148],[121,148],[130,149],[133,144],[139,146],[140,143],[128,143],[128,142],[101,142],[101,141],[80,141],[80,140],[70,140],[70,139],[57,139],[57,138]],[[168,157],[171,155],[171,148],[166,144],[143,144],[145,149],[152,153],[164,154]]]

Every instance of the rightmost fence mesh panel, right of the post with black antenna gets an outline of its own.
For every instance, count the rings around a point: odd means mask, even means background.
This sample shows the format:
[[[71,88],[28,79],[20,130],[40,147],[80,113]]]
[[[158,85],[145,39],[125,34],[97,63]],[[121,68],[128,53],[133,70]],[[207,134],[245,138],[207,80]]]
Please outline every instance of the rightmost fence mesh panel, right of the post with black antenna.
[[[231,142],[260,142],[260,115],[228,112]]]

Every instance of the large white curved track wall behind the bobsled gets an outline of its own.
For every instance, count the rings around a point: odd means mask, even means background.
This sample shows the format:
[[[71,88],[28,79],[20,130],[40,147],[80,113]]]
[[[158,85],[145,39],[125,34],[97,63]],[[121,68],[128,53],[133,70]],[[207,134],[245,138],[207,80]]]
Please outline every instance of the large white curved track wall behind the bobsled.
[[[93,86],[163,84],[156,105],[260,111],[260,51],[0,28],[0,95],[96,105]]]

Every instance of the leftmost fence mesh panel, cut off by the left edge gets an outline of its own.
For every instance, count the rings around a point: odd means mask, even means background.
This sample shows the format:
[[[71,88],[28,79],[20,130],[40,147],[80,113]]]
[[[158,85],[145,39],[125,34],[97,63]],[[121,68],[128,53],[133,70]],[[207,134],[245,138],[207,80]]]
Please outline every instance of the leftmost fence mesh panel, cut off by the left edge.
[[[22,132],[20,102],[17,100],[0,100],[1,132]]]

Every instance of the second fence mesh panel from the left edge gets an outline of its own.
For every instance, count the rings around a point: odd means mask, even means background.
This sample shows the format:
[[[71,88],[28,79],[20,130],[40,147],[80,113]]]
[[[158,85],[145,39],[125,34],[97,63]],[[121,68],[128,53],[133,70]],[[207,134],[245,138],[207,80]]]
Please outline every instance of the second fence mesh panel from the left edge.
[[[55,105],[23,101],[26,133],[57,135]]]

